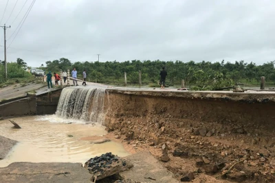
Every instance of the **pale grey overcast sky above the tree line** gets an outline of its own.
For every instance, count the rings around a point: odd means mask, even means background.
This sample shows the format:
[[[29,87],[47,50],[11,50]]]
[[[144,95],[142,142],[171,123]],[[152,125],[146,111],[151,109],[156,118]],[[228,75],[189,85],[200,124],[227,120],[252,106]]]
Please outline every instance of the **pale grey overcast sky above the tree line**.
[[[273,0],[36,0],[20,30],[32,0],[16,2],[8,1],[1,22],[11,25],[7,46],[14,39],[8,62],[95,61],[98,53],[100,62],[275,60]],[[3,60],[3,29],[0,41]]]

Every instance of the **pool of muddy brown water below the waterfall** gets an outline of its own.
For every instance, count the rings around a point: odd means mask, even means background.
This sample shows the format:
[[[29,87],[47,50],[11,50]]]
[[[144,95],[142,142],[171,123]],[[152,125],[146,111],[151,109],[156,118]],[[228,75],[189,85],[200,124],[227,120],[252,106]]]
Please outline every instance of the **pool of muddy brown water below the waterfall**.
[[[94,144],[80,138],[104,136],[107,131],[100,125],[83,121],[61,119],[56,115],[12,118],[21,125],[14,129],[8,120],[0,121],[0,134],[18,141],[8,156],[0,160],[0,167],[12,162],[82,162],[89,158],[112,152],[127,156],[120,143],[113,141]],[[68,124],[71,123],[71,124]]]

